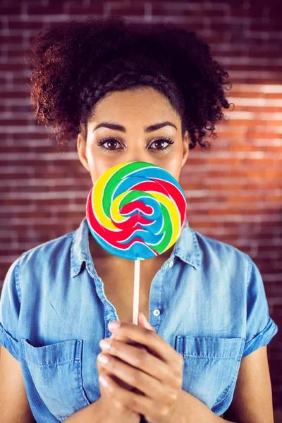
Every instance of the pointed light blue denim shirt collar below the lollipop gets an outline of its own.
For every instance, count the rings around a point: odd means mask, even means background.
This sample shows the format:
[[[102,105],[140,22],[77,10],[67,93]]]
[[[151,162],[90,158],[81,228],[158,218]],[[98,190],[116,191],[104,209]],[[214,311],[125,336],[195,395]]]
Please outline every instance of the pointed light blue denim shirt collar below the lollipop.
[[[71,276],[73,278],[79,274],[83,262],[85,262],[90,276],[94,277],[97,274],[90,254],[89,235],[90,231],[85,216],[78,229],[73,232],[73,243],[71,245]],[[191,264],[195,269],[200,267],[200,247],[197,235],[190,228],[188,221],[185,221],[185,226],[174,245],[169,261],[175,256],[179,257],[183,262]]]

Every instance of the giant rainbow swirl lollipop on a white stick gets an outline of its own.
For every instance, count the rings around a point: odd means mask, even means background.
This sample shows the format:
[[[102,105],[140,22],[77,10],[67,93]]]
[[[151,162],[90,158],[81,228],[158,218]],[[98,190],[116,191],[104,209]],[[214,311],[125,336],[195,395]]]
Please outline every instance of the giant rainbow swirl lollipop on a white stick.
[[[145,161],[118,164],[91,188],[86,203],[90,233],[106,251],[135,261],[133,323],[137,324],[140,260],[160,255],[183,230],[187,204],[176,178]]]

